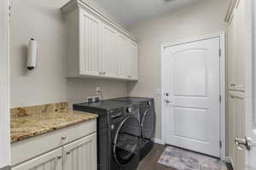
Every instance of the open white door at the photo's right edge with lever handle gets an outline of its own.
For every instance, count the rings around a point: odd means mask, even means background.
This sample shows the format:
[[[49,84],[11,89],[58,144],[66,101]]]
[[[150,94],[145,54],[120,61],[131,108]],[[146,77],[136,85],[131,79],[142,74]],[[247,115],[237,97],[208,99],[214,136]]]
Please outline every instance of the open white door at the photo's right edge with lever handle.
[[[246,150],[245,170],[256,170],[256,2],[247,0],[246,19],[247,19],[247,66],[246,66],[246,135],[250,141],[247,141],[250,148]],[[239,137],[244,139],[244,137]]]

